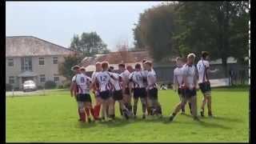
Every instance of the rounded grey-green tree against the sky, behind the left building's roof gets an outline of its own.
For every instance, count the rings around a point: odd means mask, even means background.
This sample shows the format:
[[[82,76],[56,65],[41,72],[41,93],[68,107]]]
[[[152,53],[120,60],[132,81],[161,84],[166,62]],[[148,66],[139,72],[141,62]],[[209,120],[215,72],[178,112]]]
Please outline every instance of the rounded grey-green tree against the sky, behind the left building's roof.
[[[95,54],[106,54],[110,50],[102,38],[96,33],[82,33],[81,38],[76,34],[71,40],[70,49],[81,52],[83,56],[94,56]]]

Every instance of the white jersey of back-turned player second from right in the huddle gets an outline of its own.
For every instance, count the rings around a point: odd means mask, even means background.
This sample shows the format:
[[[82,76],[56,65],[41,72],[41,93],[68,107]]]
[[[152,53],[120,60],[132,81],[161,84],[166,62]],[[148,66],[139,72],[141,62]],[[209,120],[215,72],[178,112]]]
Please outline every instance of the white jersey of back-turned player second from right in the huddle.
[[[134,82],[134,88],[144,88],[144,82],[143,78],[145,76],[143,75],[142,71],[134,71],[130,74],[129,79]]]

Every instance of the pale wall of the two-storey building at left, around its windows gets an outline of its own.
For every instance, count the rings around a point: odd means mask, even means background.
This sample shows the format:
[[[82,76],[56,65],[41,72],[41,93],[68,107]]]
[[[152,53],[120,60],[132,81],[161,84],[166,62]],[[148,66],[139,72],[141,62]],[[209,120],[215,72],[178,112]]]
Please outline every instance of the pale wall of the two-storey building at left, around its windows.
[[[63,62],[64,58],[62,55],[58,56],[43,56],[43,57],[32,57],[32,71],[35,74],[38,74],[34,78],[34,82],[37,83],[37,86],[44,86],[44,82],[40,82],[40,75],[45,74],[46,81],[54,81],[54,74],[58,74],[58,82],[56,84],[63,85],[63,81],[66,78],[62,77],[58,73],[58,64],[53,63],[53,58],[58,57],[58,63]],[[44,65],[39,65],[39,58],[44,58]],[[14,76],[14,87],[22,88],[22,80],[18,78],[18,74],[22,73],[21,70],[21,58],[13,58],[14,66],[8,66],[8,58],[6,58],[6,83],[9,83],[9,77]],[[57,76],[57,75],[56,75]]]

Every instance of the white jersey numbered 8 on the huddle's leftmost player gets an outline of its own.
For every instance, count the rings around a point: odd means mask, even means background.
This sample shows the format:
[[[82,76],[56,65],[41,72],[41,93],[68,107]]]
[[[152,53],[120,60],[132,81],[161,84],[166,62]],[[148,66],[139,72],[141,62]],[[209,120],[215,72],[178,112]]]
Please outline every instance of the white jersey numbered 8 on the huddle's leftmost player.
[[[72,78],[73,79],[73,78]],[[77,84],[78,94],[90,94],[90,77],[85,74],[76,74],[74,82]]]

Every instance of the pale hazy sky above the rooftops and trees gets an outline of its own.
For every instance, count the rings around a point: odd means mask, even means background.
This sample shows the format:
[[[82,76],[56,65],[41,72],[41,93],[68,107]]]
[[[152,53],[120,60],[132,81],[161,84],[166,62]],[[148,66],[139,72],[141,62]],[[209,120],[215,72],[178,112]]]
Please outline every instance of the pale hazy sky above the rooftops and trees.
[[[34,36],[69,47],[74,34],[96,31],[108,49],[134,46],[139,14],[161,2],[6,2],[6,36]]]

